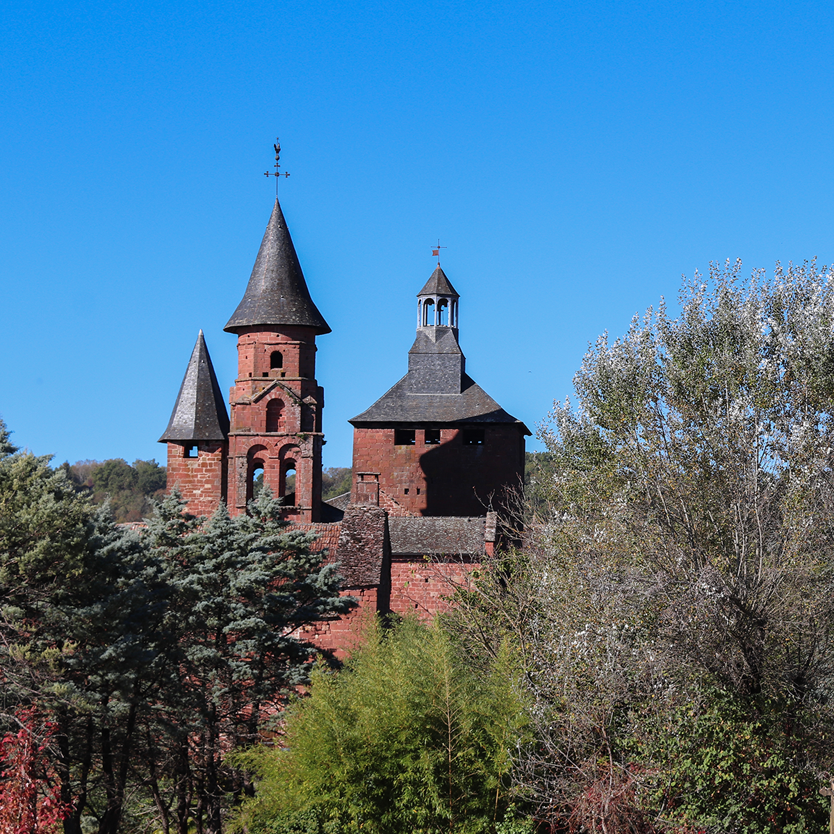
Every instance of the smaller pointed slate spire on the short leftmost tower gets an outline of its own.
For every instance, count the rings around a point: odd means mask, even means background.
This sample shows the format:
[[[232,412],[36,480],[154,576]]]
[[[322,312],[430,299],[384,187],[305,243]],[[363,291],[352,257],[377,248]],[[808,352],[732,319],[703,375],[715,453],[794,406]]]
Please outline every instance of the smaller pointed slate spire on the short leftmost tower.
[[[171,420],[159,442],[226,440],[228,435],[229,414],[200,330],[183,384],[179,386]]]

